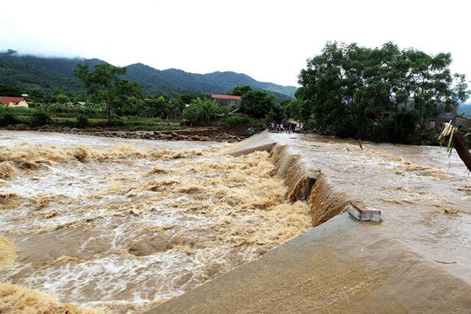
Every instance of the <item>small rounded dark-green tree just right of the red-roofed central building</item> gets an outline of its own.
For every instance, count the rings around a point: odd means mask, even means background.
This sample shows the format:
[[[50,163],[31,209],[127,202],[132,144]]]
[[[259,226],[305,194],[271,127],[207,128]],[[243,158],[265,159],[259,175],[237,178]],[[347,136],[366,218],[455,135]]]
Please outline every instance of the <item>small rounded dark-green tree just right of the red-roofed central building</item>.
[[[263,118],[275,107],[275,97],[266,91],[248,91],[242,96],[240,108],[254,118]]]

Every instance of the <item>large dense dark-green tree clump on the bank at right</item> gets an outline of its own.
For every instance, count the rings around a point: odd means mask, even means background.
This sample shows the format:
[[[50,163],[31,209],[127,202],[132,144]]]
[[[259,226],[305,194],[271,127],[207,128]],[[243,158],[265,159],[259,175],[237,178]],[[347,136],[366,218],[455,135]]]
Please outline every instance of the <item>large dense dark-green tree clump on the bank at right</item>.
[[[380,113],[399,113],[413,103],[421,130],[436,114],[437,103],[451,109],[470,95],[465,76],[452,75],[450,63],[448,53],[431,56],[394,43],[369,48],[328,42],[301,70],[297,98],[303,101],[304,118],[327,133],[357,138],[390,133],[395,138],[402,116],[388,121]]]

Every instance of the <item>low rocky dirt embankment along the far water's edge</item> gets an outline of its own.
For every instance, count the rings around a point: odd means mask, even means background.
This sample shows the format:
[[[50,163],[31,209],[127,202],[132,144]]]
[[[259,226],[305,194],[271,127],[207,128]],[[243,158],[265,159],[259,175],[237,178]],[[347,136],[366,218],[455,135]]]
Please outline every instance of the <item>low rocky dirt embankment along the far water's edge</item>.
[[[38,131],[52,131],[38,128]],[[203,142],[239,142],[245,135],[236,135],[225,128],[191,128],[169,131],[116,131],[116,130],[81,130],[77,128],[62,128],[62,133],[77,135],[93,135],[103,138],[129,138],[134,140],[199,140]]]

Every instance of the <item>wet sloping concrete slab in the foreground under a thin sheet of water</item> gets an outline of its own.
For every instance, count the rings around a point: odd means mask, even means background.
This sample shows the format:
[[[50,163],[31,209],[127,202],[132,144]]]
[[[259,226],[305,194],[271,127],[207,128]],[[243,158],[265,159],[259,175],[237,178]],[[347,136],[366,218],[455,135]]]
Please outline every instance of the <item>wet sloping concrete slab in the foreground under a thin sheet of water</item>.
[[[471,286],[348,213],[154,313],[469,313]]]

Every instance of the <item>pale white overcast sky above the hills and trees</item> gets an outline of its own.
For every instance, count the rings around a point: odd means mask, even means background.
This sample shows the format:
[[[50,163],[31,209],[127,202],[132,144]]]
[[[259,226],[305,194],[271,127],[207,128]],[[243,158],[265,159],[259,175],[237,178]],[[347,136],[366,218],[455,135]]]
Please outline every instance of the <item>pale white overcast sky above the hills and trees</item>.
[[[234,71],[296,85],[327,40],[451,52],[471,80],[471,1],[2,1],[0,50]]]

